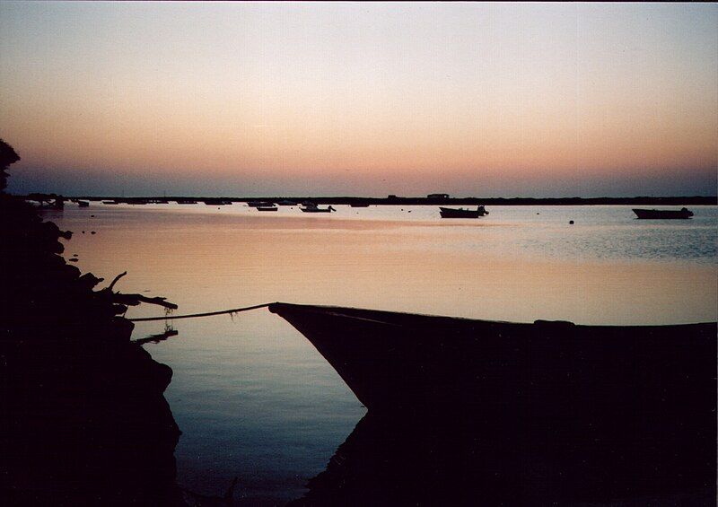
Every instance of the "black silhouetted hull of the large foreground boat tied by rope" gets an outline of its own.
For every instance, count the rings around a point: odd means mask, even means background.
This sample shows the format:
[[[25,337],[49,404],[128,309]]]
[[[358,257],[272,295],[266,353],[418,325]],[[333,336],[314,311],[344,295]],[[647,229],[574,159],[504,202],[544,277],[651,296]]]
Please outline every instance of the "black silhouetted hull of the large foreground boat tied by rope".
[[[302,332],[372,410],[521,406],[546,416],[567,406],[591,415],[633,404],[652,411],[715,405],[714,323],[521,324],[286,303],[270,310]]]

